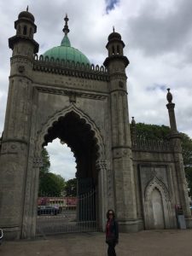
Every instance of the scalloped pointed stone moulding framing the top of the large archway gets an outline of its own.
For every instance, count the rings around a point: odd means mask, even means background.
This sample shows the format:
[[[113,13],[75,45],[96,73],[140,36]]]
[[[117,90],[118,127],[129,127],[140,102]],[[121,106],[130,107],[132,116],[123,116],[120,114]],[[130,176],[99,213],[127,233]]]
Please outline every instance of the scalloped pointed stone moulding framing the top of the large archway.
[[[42,145],[44,143],[44,136],[48,133],[48,129],[54,124],[54,122],[58,121],[61,117],[65,117],[67,113],[78,114],[80,119],[84,119],[85,124],[90,125],[90,130],[94,132],[94,137],[96,138],[96,145],[98,146],[98,160],[105,160],[104,143],[100,129],[96,126],[95,122],[90,119],[90,116],[88,114],[77,108],[73,103],[67,108],[56,111],[52,116],[49,116],[42,125],[41,129],[37,131],[37,140],[35,143],[36,158],[40,157]]]

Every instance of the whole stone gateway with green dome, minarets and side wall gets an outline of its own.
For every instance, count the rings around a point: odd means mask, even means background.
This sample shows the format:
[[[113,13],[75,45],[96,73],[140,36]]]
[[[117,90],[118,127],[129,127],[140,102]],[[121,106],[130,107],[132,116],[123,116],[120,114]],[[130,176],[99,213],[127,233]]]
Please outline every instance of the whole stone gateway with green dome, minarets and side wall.
[[[176,205],[191,228],[181,139],[168,91],[167,141],[137,138],[129,125],[124,55],[118,32],[108,36],[102,67],[71,46],[68,18],[61,45],[38,56],[34,16],[22,11],[9,38],[9,95],[0,140],[0,228],[8,239],[36,236],[41,152],[55,138],[72,148],[79,193],[97,188],[96,220],[105,229],[114,209],[121,232],[177,229]],[[82,190],[82,191],[80,191]]]

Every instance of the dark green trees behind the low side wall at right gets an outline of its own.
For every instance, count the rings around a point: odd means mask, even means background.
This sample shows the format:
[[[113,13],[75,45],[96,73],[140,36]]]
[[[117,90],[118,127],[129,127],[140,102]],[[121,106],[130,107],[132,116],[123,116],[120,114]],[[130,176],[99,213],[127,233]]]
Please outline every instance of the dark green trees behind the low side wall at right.
[[[170,133],[170,127],[166,125],[147,125],[138,123],[137,137],[143,139],[163,140],[167,139]],[[192,139],[185,133],[181,134],[183,148],[183,164],[185,175],[189,186],[189,195],[192,196]]]

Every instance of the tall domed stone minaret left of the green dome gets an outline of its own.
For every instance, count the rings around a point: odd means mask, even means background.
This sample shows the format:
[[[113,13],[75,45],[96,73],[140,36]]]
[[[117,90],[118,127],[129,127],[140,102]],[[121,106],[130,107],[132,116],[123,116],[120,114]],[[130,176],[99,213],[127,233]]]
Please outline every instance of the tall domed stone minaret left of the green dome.
[[[13,55],[0,166],[0,227],[6,227],[6,236],[11,239],[20,238],[22,232],[32,121],[32,61],[38,52],[33,39],[37,27],[28,8],[15,21],[15,30],[15,36],[9,38]]]

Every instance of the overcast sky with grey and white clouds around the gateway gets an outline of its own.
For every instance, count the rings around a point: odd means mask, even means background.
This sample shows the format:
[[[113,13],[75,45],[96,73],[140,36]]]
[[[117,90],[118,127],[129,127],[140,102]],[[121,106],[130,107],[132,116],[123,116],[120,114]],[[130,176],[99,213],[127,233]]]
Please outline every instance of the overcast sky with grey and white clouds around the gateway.
[[[169,125],[166,88],[176,103],[177,129],[192,137],[192,1],[191,0],[7,0],[0,2],[0,133],[9,86],[8,38],[22,10],[35,17],[39,53],[61,44],[64,16],[69,17],[69,38],[94,64],[108,55],[105,45],[112,27],[125,42],[130,117],[137,122]],[[67,179],[75,164],[69,148],[48,147],[51,170]],[[63,152],[62,152],[63,150]],[[62,154],[63,153],[63,154]],[[56,166],[54,166],[54,163]]]

